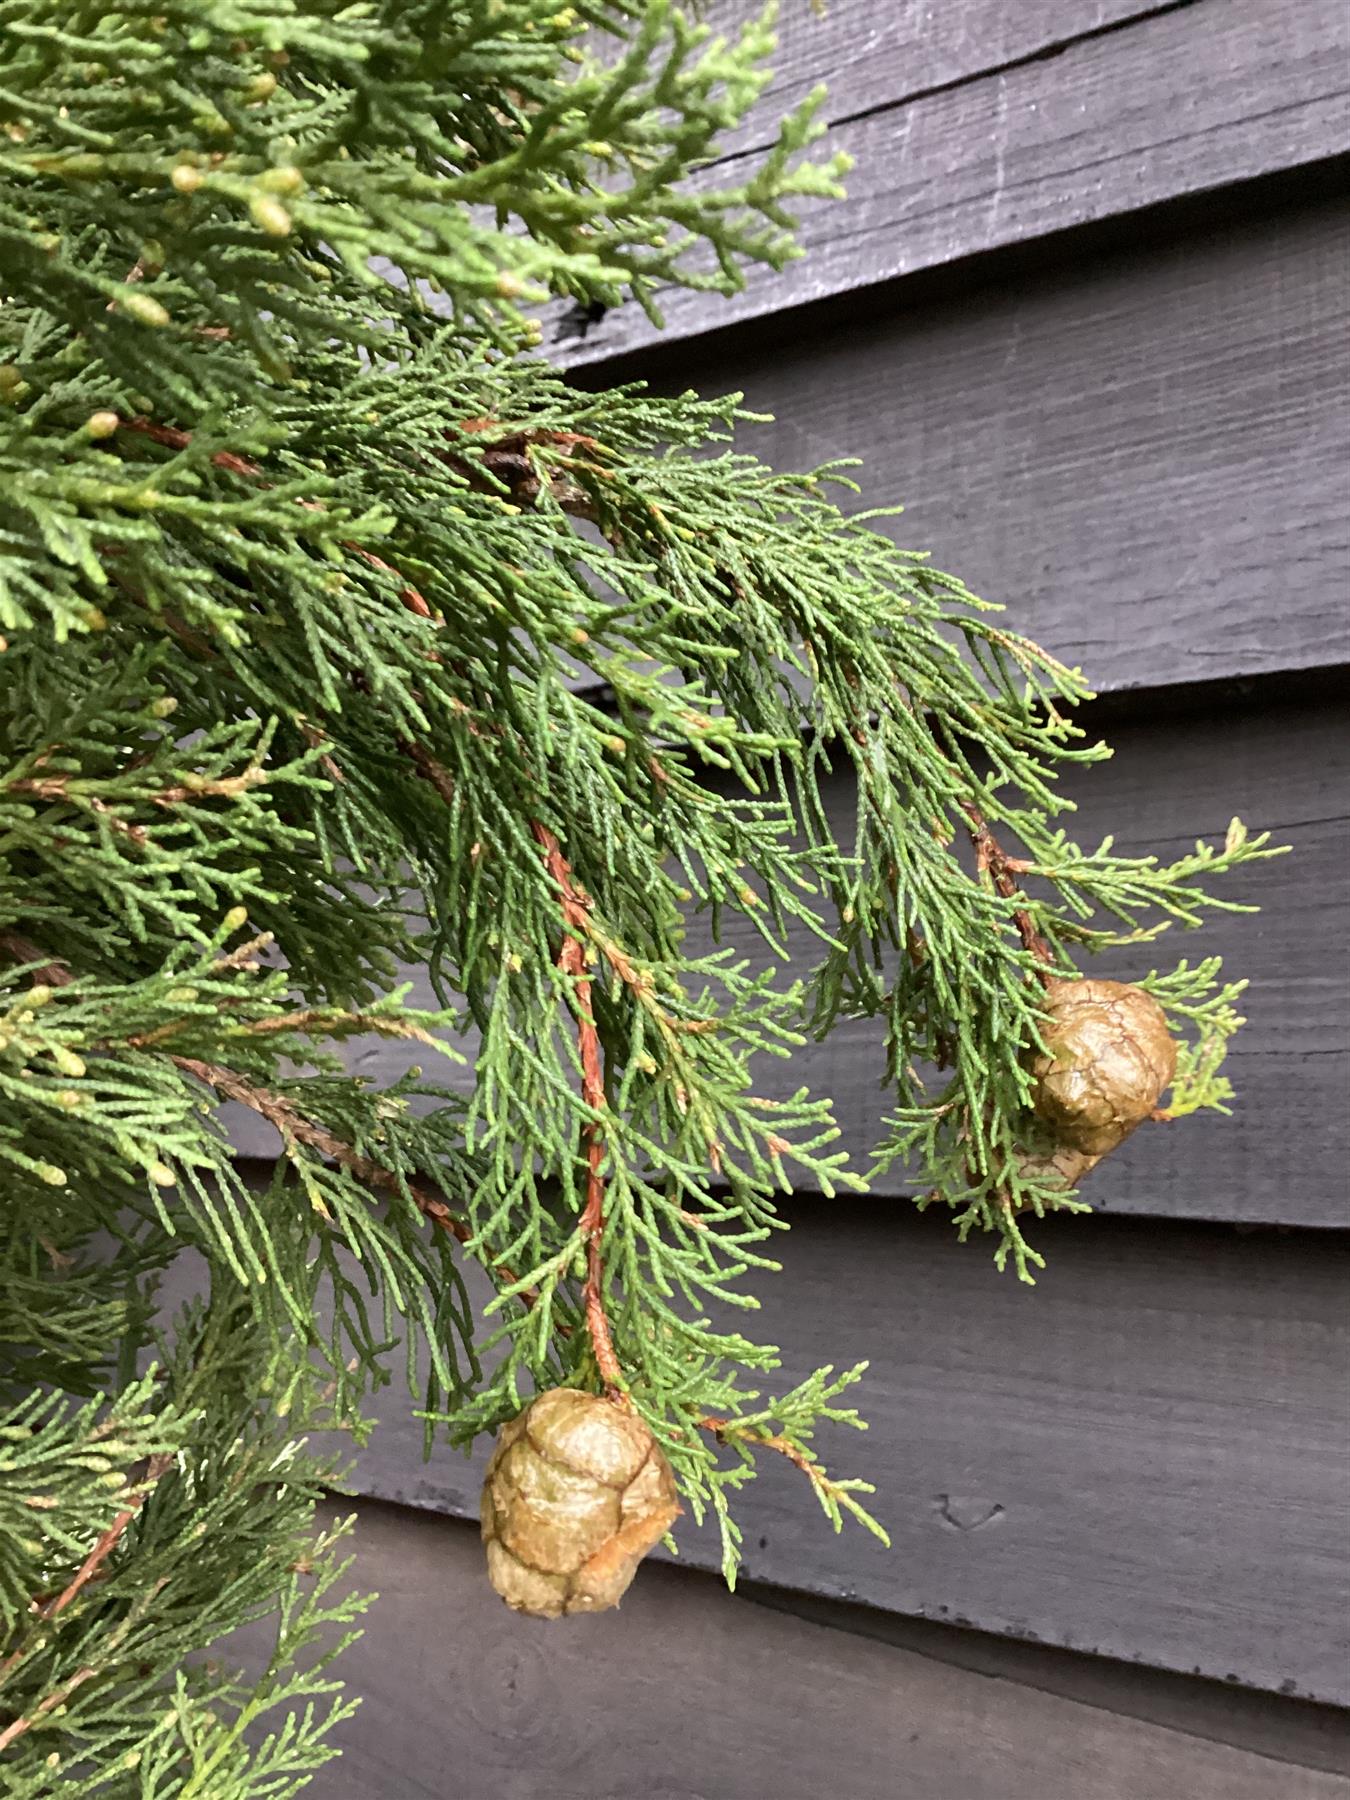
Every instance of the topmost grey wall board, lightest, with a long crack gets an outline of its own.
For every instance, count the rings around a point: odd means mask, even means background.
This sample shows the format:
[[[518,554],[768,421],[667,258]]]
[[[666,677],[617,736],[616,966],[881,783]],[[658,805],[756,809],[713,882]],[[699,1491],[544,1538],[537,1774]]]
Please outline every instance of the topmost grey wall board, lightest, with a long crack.
[[[1082,7],[1064,11],[1067,36]],[[990,7],[976,13],[979,31]],[[923,31],[927,16],[916,23]],[[662,293],[666,333],[691,337],[1346,149],[1350,14],[1341,0],[1199,0],[1057,54],[1037,54],[1035,25],[1015,38],[1026,45],[1021,61],[896,101],[886,95],[905,92],[905,25],[859,47],[873,65],[864,99],[853,103],[855,74],[842,72],[842,117],[823,140],[857,162],[848,200],[803,209],[806,256],[785,272],[752,270],[729,299]],[[979,52],[970,59],[983,61]],[[707,178],[740,173],[733,155]],[[572,365],[657,335],[632,304],[583,337],[565,311],[551,317],[551,331]]]

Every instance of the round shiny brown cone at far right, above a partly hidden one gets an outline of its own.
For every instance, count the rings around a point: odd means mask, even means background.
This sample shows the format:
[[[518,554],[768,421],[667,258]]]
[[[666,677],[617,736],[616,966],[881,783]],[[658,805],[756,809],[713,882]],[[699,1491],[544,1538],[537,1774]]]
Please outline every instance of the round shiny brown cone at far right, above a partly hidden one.
[[[1033,1105],[1062,1145],[1105,1156],[1154,1111],[1175,1075],[1166,1013],[1123,981],[1057,981],[1031,1058]]]

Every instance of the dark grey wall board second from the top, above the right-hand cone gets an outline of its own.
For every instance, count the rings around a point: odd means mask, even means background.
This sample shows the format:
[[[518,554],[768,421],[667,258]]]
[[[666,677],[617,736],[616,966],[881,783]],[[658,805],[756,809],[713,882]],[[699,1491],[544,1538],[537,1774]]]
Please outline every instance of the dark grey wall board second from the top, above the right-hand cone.
[[[1107,691],[1350,661],[1348,338],[1330,202],[625,373],[743,389],[779,468],[862,457],[848,508],[904,502],[891,536]]]

